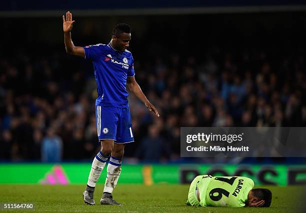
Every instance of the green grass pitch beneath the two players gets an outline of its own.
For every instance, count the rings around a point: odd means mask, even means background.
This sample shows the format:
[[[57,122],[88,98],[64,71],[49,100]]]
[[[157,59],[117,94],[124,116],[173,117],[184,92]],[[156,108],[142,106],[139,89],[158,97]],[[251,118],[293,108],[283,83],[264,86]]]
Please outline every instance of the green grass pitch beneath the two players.
[[[269,208],[225,208],[186,206],[189,185],[118,184],[113,192],[123,206],[100,205],[103,185],[97,184],[95,205],[86,205],[82,199],[84,185],[0,185],[0,202],[34,203],[38,212],[306,212],[305,187],[267,186],[272,191]],[[304,205],[305,207],[305,205]],[[31,210],[14,210],[30,212]],[[0,210],[0,212],[4,212]],[[10,210],[9,212],[13,212]]]

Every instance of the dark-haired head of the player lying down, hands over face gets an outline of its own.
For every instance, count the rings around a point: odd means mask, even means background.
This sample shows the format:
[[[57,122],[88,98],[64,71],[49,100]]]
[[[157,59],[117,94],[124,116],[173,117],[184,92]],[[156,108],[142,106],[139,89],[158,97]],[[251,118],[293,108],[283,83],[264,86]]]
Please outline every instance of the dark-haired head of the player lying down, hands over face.
[[[272,192],[267,188],[254,188],[249,191],[247,196],[247,205],[255,206],[260,200],[264,200],[264,203],[258,207],[269,207],[272,200]]]

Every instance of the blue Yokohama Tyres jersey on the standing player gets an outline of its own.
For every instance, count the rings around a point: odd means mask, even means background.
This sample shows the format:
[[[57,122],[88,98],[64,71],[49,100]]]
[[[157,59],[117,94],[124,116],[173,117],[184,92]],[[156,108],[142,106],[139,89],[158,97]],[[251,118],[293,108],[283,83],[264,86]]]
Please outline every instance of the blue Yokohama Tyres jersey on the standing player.
[[[126,78],[135,75],[131,52],[115,50],[109,43],[83,49],[85,58],[93,63],[97,86],[95,105],[127,107]]]

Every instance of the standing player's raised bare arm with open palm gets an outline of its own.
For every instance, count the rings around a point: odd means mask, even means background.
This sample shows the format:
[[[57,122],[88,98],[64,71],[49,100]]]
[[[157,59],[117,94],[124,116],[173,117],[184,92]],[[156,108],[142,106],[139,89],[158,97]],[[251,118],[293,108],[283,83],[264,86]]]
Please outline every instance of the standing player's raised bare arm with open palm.
[[[66,12],[66,17],[63,15],[62,16],[63,20],[63,31],[64,31],[64,40],[65,40],[65,47],[66,47],[66,52],[68,54],[73,54],[77,55],[80,57],[85,57],[85,52],[83,47],[81,46],[74,46],[72,40],[71,40],[71,29],[72,25],[74,23],[74,20],[72,20],[72,13],[67,11]]]

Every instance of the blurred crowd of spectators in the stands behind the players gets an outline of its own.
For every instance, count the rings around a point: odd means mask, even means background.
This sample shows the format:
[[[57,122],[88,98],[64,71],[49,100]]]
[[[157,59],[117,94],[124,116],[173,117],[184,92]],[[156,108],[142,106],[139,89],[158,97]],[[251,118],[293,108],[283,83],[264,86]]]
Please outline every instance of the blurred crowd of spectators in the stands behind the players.
[[[17,50],[16,50],[17,51]],[[135,79],[156,118],[132,94],[135,142],[125,158],[175,161],[180,126],[305,126],[305,57],[255,49],[135,59]],[[0,159],[90,160],[100,148],[90,62],[54,50],[0,58]]]

